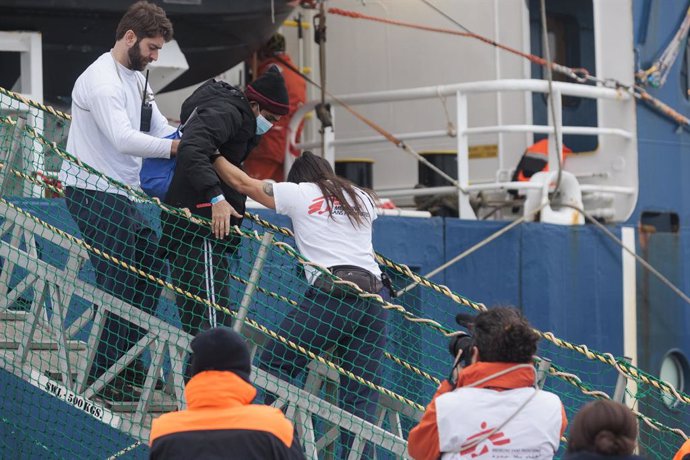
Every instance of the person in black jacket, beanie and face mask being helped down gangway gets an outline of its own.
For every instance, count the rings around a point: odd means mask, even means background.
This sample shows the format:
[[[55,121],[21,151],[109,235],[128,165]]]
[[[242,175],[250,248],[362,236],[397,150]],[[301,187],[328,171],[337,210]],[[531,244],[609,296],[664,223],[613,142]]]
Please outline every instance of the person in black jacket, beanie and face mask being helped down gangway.
[[[272,68],[243,92],[225,82],[209,80],[182,104],[184,134],[177,167],[165,202],[212,219],[212,229],[169,213],[161,216],[163,239],[173,282],[184,291],[229,305],[228,257],[239,243],[228,237],[242,223],[246,196],[223,183],[213,169],[222,156],[240,166],[272,122],[288,113],[285,81]],[[177,295],[182,328],[196,335],[229,318],[203,303]],[[217,315],[221,315],[219,317]]]

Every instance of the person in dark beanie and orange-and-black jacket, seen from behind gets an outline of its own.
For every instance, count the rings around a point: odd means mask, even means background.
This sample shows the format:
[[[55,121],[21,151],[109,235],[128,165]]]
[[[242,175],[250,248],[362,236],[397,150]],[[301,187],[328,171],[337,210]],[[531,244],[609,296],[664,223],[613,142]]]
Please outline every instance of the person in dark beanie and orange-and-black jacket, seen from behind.
[[[244,339],[218,327],[192,340],[187,409],[155,419],[151,459],[304,459],[292,423],[276,408],[251,404],[251,359]]]

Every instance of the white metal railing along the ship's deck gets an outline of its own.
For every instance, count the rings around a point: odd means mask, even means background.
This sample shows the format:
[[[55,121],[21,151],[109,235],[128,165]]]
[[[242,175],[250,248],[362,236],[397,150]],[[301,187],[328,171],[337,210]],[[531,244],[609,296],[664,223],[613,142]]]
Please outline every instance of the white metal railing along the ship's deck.
[[[553,83],[553,97],[549,98],[548,113],[551,113],[551,104],[553,101],[553,109],[556,113],[555,123],[549,116],[549,124],[547,126],[534,124],[499,124],[494,126],[469,127],[469,103],[468,96],[482,93],[504,93],[504,92],[522,92],[522,93],[548,93],[549,86],[545,80],[491,80],[471,83],[458,83],[453,85],[428,86],[403,90],[378,91],[360,94],[350,94],[338,96],[338,99],[351,106],[364,104],[380,104],[392,102],[405,102],[423,99],[437,99],[448,96],[455,96],[456,98],[456,128],[457,135],[457,158],[458,158],[458,185],[456,189],[452,190],[458,193],[460,217],[466,219],[474,219],[476,216],[470,207],[469,192],[488,191],[488,190],[524,190],[524,189],[540,189],[539,184],[531,184],[525,182],[510,182],[510,181],[493,181],[485,183],[471,183],[470,182],[470,167],[469,167],[469,137],[482,134],[498,134],[498,161],[499,165],[503,164],[504,148],[503,135],[507,133],[539,133],[548,134],[549,137],[549,168],[554,171],[558,169],[558,155],[556,153],[556,145],[563,145],[563,135],[582,135],[582,136],[612,136],[624,139],[626,142],[634,142],[635,135],[625,127],[583,127],[583,126],[563,126],[562,123],[562,97],[583,97],[597,100],[618,101],[626,104],[633,104],[633,98],[623,90],[616,90],[612,88],[605,88],[600,86],[590,86],[576,83],[554,82]],[[295,143],[295,135],[297,127],[304,116],[312,111],[320,101],[309,101],[304,104],[290,121],[289,132],[291,133],[290,144],[295,145],[299,149],[321,148],[321,142],[302,142]],[[332,99],[329,102],[336,103]],[[632,110],[632,106],[630,108]],[[421,140],[421,139],[441,139],[449,138],[449,133],[446,130],[430,130],[406,133],[394,133],[394,135],[404,141]],[[558,142],[555,142],[556,136]],[[332,132],[326,133],[325,136],[325,158],[333,161],[335,159],[335,149],[340,146],[353,145],[370,145],[375,143],[386,142],[387,139],[383,136],[365,136],[336,139]],[[443,187],[447,189],[447,187]],[[465,190],[467,193],[463,193]],[[589,184],[583,186],[583,191],[587,192],[605,192],[611,194],[634,195],[636,190],[633,187],[626,186],[611,186],[603,184]],[[380,193],[381,196],[412,196],[429,193],[439,193],[439,189],[428,189],[426,191],[416,191],[415,189],[400,189],[393,194]]]

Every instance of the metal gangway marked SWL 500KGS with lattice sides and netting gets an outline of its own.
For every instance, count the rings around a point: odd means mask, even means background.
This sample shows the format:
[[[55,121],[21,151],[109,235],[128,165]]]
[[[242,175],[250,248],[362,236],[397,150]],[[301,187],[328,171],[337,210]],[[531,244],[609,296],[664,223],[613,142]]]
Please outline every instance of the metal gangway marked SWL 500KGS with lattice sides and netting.
[[[146,443],[153,418],[185,407],[182,376],[192,337],[81,280],[79,271],[89,262],[80,240],[62,231],[50,235],[40,232],[42,238],[68,254],[64,266],[56,266],[52,261],[41,260],[36,249],[37,229],[45,230],[37,225],[40,219],[4,199],[0,202],[0,214],[4,216],[0,226],[0,259],[4,261],[0,280],[16,277],[17,268],[24,274],[22,279],[15,280],[17,284],[11,290],[7,289],[9,283],[2,283],[8,292],[0,298],[0,367]],[[67,310],[73,297],[97,304],[99,308],[95,314],[88,308],[68,323]],[[147,333],[101,377],[87,383],[87,370],[95,358],[106,312],[142,327]],[[89,331],[87,341],[75,339],[81,330]],[[252,343],[266,340],[263,334],[247,327],[243,333]],[[111,405],[99,402],[96,397],[99,391],[147,351],[151,364],[138,401]],[[166,360],[170,365],[167,384],[163,390],[157,390],[156,381],[163,373]],[[308,458],[316,459],[322,452],[332,452],[338,428],[355,435],[350,458],[359,458],[364,441],[398,457],[406,455],[400,416],[417,420],[420,411],[381,395],[377,423],[367,422],[320,396],[322,385],[329,385],[331,393],[337,389],[337,373],[316,361],[310,364],[310,369],[305,388],[279,380],[256,367],[252,369],[254,385],[276,394],[276,404],[284,405],[308,447]],[[319,437],[312,416],[329,423],[331,429]],[[390,428],[383,428],[384,422]]]

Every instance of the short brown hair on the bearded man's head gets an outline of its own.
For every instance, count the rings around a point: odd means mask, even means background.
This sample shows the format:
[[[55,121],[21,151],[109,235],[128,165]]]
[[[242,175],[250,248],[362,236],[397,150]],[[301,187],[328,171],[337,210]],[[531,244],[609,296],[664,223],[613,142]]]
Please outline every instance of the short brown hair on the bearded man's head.
[[[172,23],[163,8],[145,0],[136,2],[127,9],[117,25],[115,40],[120,40],[130,29],[139,40],[158,36],[162,36],[166,42],[172,40]]]

